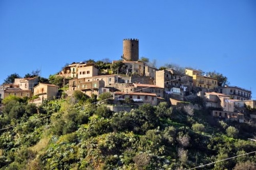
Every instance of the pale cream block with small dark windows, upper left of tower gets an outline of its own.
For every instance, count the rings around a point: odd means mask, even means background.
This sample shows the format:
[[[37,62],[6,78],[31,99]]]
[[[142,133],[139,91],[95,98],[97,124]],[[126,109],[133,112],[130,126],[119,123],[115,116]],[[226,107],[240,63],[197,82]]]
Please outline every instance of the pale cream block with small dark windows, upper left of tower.
[[[87,78],[98,75],[98,69],[94,66],[94,63],[79,64],[77,66],[78,76],[77,78]]]

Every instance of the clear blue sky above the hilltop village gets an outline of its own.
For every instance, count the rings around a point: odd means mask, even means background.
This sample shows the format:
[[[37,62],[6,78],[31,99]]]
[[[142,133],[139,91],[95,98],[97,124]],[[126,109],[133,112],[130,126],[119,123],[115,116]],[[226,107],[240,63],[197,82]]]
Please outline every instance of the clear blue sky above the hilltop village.
[[[0,83],[119,60],[124,38],[158,67],[216,70],[256,96],[256,0],[0,0]]]

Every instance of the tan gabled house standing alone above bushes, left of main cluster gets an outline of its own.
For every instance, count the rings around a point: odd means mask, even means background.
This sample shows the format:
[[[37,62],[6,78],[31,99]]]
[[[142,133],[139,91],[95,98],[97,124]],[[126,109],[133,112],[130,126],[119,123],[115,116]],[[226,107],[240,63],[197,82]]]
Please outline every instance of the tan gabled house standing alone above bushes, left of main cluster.
[[[38,98],[30,102],[41,104],[43,100],[52,100],[58,96],[58,89],[59,86],[54,84],[39,83],[34,87],[34,96],[38,96]]]

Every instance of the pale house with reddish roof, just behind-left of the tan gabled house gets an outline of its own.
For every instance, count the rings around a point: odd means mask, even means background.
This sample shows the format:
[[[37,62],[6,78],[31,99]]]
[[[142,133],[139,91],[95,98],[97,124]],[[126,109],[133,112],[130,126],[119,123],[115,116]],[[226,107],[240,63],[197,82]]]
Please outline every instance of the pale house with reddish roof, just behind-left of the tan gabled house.
[[[38,77],[33,78],[15,78],[14,84],[18,85],[22,90],[31,90],[33,92],[34,86],[39,82]]]

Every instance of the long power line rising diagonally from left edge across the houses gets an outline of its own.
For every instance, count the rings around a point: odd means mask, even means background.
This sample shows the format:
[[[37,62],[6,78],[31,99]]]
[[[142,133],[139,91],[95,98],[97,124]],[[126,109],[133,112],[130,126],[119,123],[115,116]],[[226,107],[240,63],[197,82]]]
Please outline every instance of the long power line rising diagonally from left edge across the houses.
[[[180,78],[184,78],[184,77],[187,77],[187,76],[183,76],[183,77],[180,77]],[[169,80],[169,81],[166,81],[166,82],[171,82],[171,81],[174,81],[174,80],[179,80],[180,78],[176,78],[176,79]],[[166,83],[166,82],[164,82],[164,83]],[[140,91],[140,90],[147,89],[147,88],[151,88],[151,87],[141,88],[141,89],[138,89],[138,90],[134,90],[134,91],[132,91],[132,92]],[[126,94],[130,94],[130,93],[132,93],[132,92],[128,92],[128,93],[126,93]],[[117,95],[117,96],[114,96],[114,98],[119,97],[119,96],[122,96],[122,94]],[[98,102],[94,102],[93,104],[97,104],[97,103],[99,103],[99,102],[106,101],[106,100],[109,100],[109,99],[112,99],[112,98],[107,98],[107,99],[104,99],[104,100],[100,100],[100,101],[98,101]],[[36,121],[36,120],[48,118],[48,117],[51,117],[51,116],[56,115],[56,114],[60,114],[60,113],[64,113],[64,112],[67,112],[67,111],[71,111],[71,110],[75,110],[75,109],[78,109],[78,108],[82,108],[82,107],[88,106],[88,105],[90,105],[90,104],[86,104],[86,105],[83,105],[83,106],[78,106],[78,107],[76,107],[76,108],[68,109],[68,110],[62,111],[62,112],[57,112],[57,113],[54,113],[54,114],[51,114],[51,115],[48,115],[48,116],[44,116],[44,117],[42,117],[42,118],[36,118],[36,119],[29,120],[29,121],[27,121],[27,122],[23,122],[23,123],[20,123],[20,124],[8,126],[8,127],[5,127],[5,128],[0,129],[0,131],[6,130],[6,129],[9,129],[9,128],[13,128],[13,127],[16,127],[16,126],[19,126],[19,125],[22,125],[22,124],[26,124],[26,123],[28,123],[28,122],[34,122],[34,121]]]

